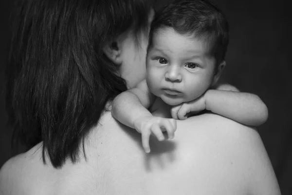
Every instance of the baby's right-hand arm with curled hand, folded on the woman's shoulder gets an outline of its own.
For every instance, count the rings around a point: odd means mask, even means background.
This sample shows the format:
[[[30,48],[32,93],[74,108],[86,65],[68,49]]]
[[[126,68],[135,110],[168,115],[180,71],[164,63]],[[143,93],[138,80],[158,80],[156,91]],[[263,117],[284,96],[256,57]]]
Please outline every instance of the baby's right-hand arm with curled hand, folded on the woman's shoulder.
[[[233,91],[210,89],[200,98],[174,106],[171,116],[183,120],[189,113],[205,109],[250,126],[261,125],[268,118],[267,106],[258,96],[238,92],[236,88]]]

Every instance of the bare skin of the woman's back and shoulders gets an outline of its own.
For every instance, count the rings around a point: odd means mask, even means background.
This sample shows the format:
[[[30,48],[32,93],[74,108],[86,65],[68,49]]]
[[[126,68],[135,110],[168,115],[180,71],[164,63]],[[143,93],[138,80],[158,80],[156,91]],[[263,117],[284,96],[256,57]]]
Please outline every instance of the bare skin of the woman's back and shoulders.
[[[100,122],[86,139],[87,161],[54,169],[40,143],[2,167],[0,195],[280,195],[255,129],[204,114],[178,120],[173,140],[151,137],[146,154],[141,135],[110,112]]]

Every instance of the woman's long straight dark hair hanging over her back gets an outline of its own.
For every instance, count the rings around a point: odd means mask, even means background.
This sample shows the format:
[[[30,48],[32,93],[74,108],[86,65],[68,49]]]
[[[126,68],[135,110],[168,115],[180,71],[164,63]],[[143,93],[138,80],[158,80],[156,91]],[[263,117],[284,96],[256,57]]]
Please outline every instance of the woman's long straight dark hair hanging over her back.
[[[17,0],[6,70],[16,140],[43,140],[55,167],[75,161],[106,102],[127,89],[125,43],[147,37],[150,10],[148,0]]]

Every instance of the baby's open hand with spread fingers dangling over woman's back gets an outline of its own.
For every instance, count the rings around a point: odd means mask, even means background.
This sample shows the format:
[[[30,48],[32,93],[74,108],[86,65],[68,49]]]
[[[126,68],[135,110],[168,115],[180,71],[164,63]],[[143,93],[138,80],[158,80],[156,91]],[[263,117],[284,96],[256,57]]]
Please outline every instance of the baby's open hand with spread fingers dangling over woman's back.
[[[149,137],[151,134],[163,141],[163,131],[166,130],[168,137],[173,138],[176,131],[176,120],[162,117],[140,117],[134,121],[135,129],[142,134],[142,145],[146,153],[150,152]]]

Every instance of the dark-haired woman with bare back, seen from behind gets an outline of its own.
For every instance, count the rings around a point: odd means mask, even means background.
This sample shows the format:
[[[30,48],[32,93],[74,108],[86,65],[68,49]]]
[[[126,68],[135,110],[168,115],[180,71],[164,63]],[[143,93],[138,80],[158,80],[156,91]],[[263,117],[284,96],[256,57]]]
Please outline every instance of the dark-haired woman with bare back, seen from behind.
[[[16,140],[0,195],[280,194],[256,131],[204,114],[150,140],[111,117],[145,76],[148,0],[18,0],[6,101]],[[124,80],[125,79],[125,80]],[[127,86],[127,87],[126,87]]]

